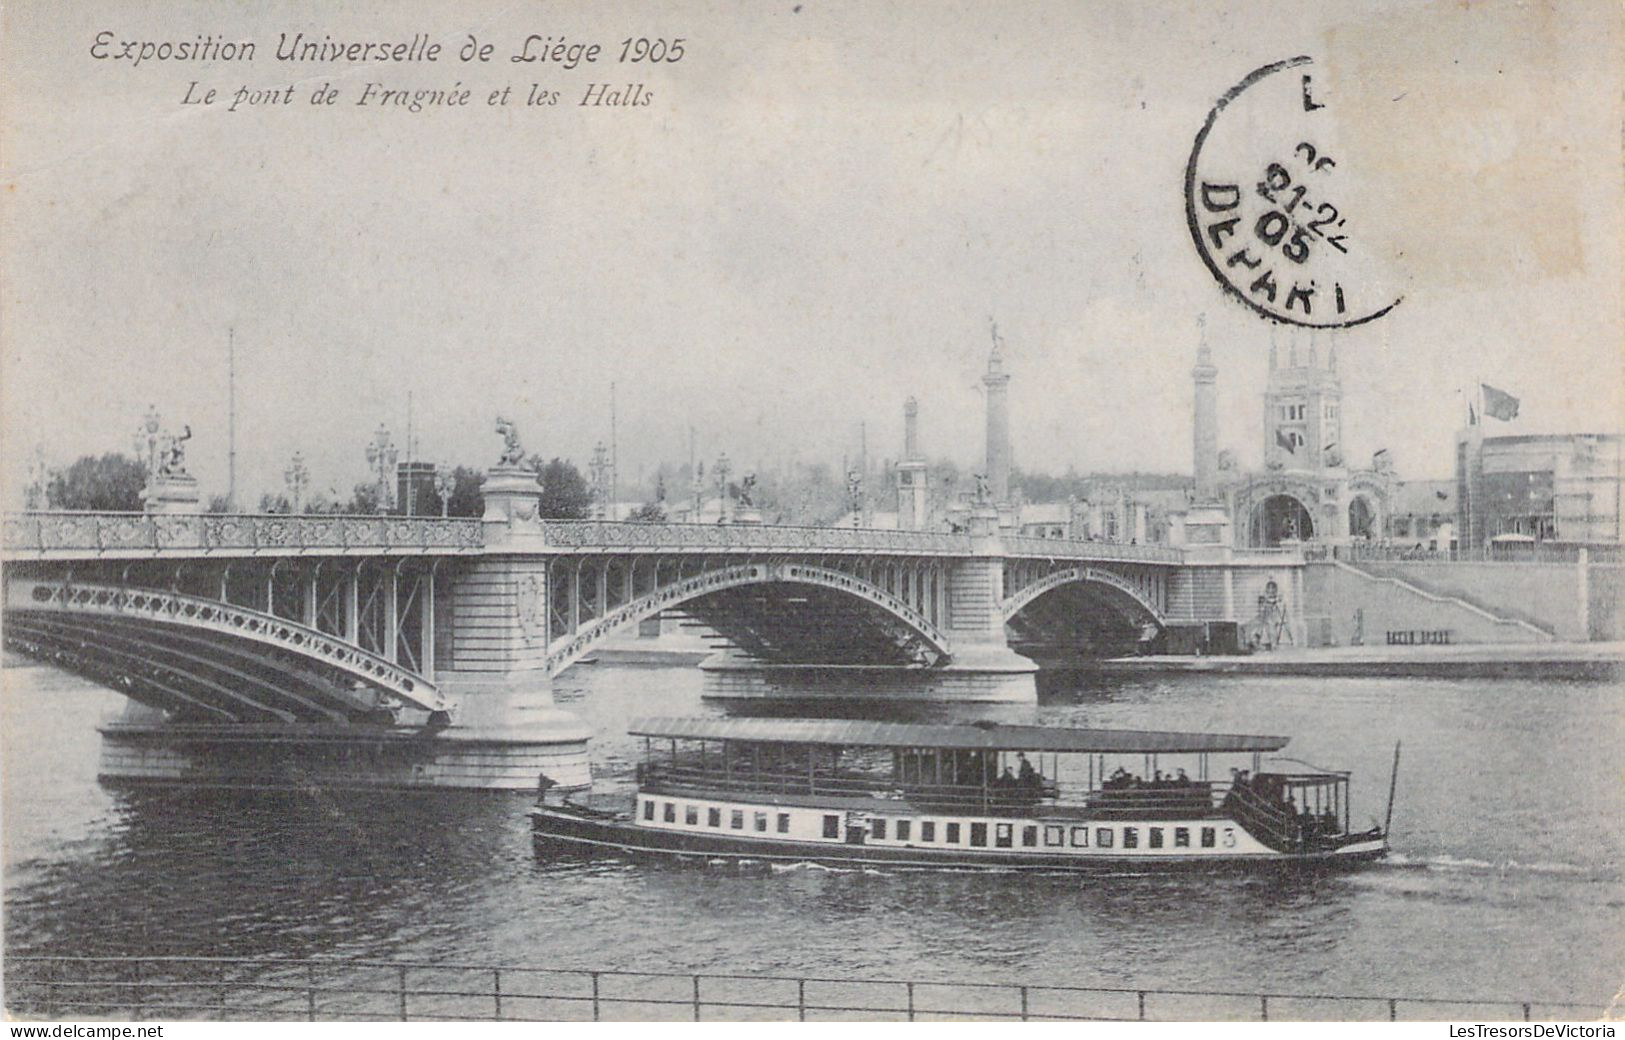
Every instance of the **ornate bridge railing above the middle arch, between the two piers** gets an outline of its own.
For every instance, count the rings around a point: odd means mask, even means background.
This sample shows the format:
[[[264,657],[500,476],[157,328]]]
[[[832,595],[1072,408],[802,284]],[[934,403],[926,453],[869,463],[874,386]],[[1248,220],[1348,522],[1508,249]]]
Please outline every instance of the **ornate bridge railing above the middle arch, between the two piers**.
[[[549,548],[561,549],[717,549],[722,552],[921,552],[970,556],[968,535],[882,531],[850,526],[744,523],[630,523],[626,520],[543,520]]]

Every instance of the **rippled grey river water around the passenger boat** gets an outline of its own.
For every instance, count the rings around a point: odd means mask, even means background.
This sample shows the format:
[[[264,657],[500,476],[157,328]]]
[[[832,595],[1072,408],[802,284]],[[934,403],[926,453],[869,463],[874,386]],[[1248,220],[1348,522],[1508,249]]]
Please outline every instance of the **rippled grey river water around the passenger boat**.
[[[374,957],[1606,1004],[1625,978],[1625,699],[1555,681],[1046,678],[1037,707],[910,717],[1290,734],[1354,770],[1391,861],[1315,879],[936,874],[538,858],[526,800],[112,793],[115,694],[8,668],[5,947]],[[692,668],[582,666],[559,702],[627,783],[635,715],[713,713]]]

